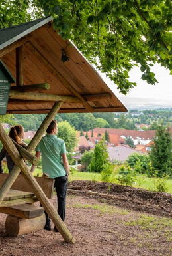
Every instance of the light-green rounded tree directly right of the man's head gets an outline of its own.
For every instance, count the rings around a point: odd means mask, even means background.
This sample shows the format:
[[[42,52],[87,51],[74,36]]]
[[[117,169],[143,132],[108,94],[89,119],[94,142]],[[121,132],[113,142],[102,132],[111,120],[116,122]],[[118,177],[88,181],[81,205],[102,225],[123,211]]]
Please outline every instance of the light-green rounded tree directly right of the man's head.
[[[58,138],[64,140],[67,152],[73,152],[77,145],[77,131],[67,121],[58,123]]]

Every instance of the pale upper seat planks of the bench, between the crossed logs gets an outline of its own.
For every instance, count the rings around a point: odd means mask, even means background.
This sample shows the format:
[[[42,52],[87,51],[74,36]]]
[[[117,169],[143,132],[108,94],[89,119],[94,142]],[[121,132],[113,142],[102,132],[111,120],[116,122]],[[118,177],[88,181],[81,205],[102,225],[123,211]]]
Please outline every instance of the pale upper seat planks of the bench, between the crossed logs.
[[[9,190],[9,192],[4,197],[3,200],[4,201],[15,200],[15,199],[28,198],[33,196],[34,196],[34,193],[31,193],[31,192],[23,192],[20,190]]]

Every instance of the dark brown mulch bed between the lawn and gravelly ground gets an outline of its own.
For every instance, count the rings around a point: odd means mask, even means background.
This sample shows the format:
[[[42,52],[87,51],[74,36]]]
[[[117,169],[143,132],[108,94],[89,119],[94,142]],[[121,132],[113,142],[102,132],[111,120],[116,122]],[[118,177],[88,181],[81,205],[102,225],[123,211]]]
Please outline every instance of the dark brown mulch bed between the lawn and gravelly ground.
[[[91,190],[105,195],[114,195],[116,198],[108,199],[110,204],[113,203],[134,211],[172,217],[172,195],[170,193],[150,192],[141,188],[84,180],[70,182],[69,188],[83,192]],[[99,198],[99,195],[97,197]],[[107,199],[106,196],[105,198]]]

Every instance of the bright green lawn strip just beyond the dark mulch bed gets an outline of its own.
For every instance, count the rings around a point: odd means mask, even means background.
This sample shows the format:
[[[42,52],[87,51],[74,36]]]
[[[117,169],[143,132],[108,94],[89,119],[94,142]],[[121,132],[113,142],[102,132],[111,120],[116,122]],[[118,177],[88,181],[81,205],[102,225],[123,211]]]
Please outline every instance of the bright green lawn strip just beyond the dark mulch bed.
[[[42,176],[42,170],[36,168],[34,170],[34,176]],[[95,180],[97,182],[101,182],[101,174],[95,172],[73,172],[69,176],[69,181],[72,180]],[[116,180],[116,175],[113,176],[112,182],[119,184],[118,180]],[[133,185],[136,188],[144,188],[146,190],[156,190],[155,186],[158,182],[157,178],[149,178],[148,176],[138,175],[137,182]],[[172,193],[172,179],[168,179],[165,182],[165,187],[167,188],[166,192]]]

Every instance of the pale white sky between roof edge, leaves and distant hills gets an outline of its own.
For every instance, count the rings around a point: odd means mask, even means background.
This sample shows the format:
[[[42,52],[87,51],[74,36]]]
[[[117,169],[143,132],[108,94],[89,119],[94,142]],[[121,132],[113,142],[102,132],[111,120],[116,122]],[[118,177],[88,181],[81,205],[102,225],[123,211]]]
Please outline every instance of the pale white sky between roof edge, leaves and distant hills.
[[[151,71],[155,73],[155,78],[159,82],[156,85],[147,84],[141,79],[142,73],[140,72],[140,68],[134,67],[130,71],[129,80],[136,82],[138,86],[132,88],[125,98],[134,97],[165,100],[171,102],[172,106],[172,75],[169,74],[169,70],[161,67],[159,64],[155,64],[155,66],[151,68]],[[120,96],[122,96],[122,98],[124,97],[124,95],[120,94],[117,90],[117,86],[110,81],[105,74],[101,74],[101,76],[118,98],[120,98]]]

